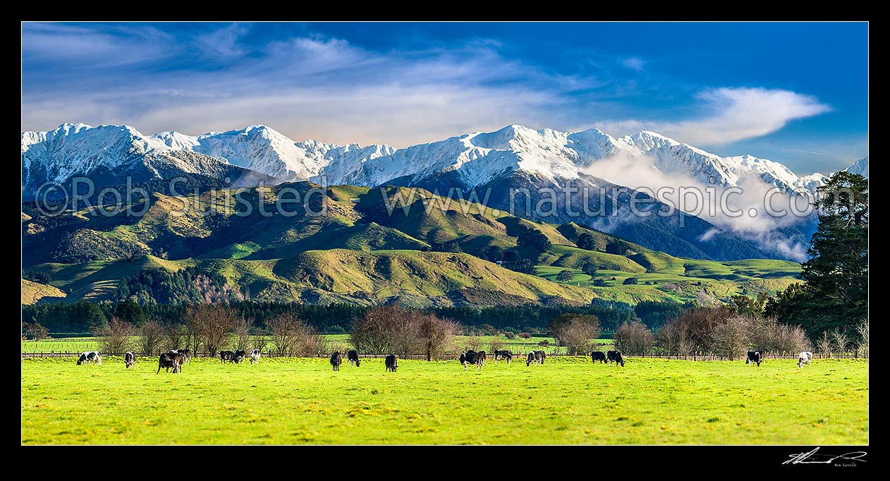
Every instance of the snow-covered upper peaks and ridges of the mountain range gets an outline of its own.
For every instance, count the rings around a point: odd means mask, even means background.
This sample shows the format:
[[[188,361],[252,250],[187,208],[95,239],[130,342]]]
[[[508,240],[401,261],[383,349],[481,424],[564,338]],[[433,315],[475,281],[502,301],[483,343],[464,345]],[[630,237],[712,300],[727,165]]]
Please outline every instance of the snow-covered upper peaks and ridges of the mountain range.
[[[261,125],[193,136],[142,135],[132,126],[63,124],[48,132],[21,134],[23,191],[36,187],[29,185],[33,181],[63,182],[97,168],[144,162],[150,154],[170,158],[174,151],[203,154],[193,156],[193,162],[173,156],[175,167],[186,173],[217,175],[218,166],[206,156],[283,181],[324,179],[332,185],[376,186],[393,179],[417,183],[430,175],[450,174],[460,187],[469,189],[516,171],[546,179],[577,178],[580,172],[597,175],[597,162],[616,158],[651,159],[652,168],[662,173],[692,175],[702,183],[723,186],[756,175],[782,190],[812,191],[826,178],[819,173],[797,175],[779,162],[750,155],[720,157],[648,131],[616,139],[596,128],[567,133],[512,125],[396,149],[383,144],[295,142]],[[868,158],[850,169],[868,175]]]

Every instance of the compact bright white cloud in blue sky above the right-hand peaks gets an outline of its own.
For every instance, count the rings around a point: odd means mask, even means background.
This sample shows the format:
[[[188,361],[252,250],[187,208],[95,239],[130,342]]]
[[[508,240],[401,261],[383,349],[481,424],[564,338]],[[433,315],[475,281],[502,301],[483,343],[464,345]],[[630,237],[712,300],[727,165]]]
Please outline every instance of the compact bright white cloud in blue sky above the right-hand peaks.
[[[790,121],[830,110],[810,95],[765,88],[717,88],[696,96],[700,118],[679,122],[617,120],[602,122],[613,135],[652,130],[692,145],[719,145],[771,134]]]

